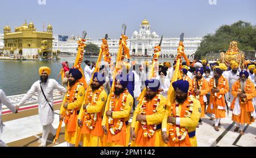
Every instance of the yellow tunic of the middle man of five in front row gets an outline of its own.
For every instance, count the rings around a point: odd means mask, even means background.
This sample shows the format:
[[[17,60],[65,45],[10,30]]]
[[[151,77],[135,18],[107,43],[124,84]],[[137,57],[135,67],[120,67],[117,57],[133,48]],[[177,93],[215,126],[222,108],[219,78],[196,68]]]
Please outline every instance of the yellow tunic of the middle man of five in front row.
[[[111,99],[110,97],[111,96],[109,95],[108,96],[108,101]],[[120,97],[119,100],[122,101],[122,98]],[[108,103],[108,101],[106,103]],[[117,106],[117,103],[118,103],[118,101],[116,102],[115,106]],[[113,112],[112,113],[112,118],[114,118],[114,119],[115,118],[125,118],[125,122],[129,121],[129,119],[130,119],[130,111],[131,111],[132,107],[133,107],[133,96],[131,96],[130,93],[128,93],[127,98],[126,98],[125,108],[123,109],[123,111],[115,111],[115,112]],[[106,116],[106,112],[108,110],[109,110],[109,104],[106,104],[105,112],[104,112],[104,117],[102,119],[102,124],[101,124],[102,126],[106,126],[107,125],[107,127],[108,127],[108,124],[109,124],[108,116]],[[123,122],[123,123],[125,123],[125,122]],[[104,137],[106,138],[110,134],[111,133],[110,133],[110,131],[108,129],[108,134],[107,135],[104,134]],[[116,134],[114,136],[118,136],[119,134],[121,134],[121,133],[118,133],[118,134]],[[105,138],[103,138],[103,139],[105,139]],[[123,145],[123,146],[126,146],[126,147],[128,146],[129,139],[130,139],[130,126],[127,125],[126,126],[126,144]],[[104,146],[106,146],[106,147],[122,147],[121,145],[116,144],[116,143],[105,142],[105,140],[103,140],[103,141],[105,143]]]

